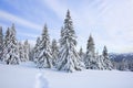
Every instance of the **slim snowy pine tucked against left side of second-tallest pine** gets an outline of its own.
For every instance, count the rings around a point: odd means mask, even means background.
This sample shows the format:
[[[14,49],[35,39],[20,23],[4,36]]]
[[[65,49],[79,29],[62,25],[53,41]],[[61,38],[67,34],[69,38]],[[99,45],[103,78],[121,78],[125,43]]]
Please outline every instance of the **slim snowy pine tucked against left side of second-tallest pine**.
[[[40,53],[40,37],[37,38],[37,43],[35,43],[35,46],[33,48],[33,62],[37,64],[38,62],[38,57],[39,57],[39,53]]]

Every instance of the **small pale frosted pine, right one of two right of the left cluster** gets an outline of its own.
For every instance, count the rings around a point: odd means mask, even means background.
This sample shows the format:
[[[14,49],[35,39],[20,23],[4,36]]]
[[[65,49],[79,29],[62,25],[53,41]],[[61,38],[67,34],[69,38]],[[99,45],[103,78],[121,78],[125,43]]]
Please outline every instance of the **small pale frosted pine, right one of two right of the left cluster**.
[[[24,50],[24,59],[29,61],[30,44],[28,43],[28,40],[24,41],[23,50]]]

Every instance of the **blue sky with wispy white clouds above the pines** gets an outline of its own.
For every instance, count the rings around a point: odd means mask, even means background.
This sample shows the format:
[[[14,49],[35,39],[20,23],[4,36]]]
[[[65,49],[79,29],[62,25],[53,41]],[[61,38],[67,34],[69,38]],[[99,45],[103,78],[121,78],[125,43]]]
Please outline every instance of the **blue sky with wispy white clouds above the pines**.
[[[133,52],[133,0],[0,0],[0,25],[16,24],[19,41],[34,43],[44,23],[50,37],[59,40],[66,10],[71,11],[78,48],[85,51],[90,35],[102,52]]]

